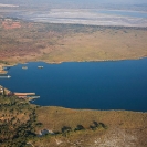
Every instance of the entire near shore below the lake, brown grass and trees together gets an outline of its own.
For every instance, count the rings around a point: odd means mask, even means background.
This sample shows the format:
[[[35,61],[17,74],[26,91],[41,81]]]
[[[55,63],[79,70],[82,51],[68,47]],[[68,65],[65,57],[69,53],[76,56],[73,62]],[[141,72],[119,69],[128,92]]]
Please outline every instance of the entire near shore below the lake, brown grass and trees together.
[[[41,130],[50,133],[39,136]],[[146,147],[147,113],[36,106],[0,96],[1,147]]]

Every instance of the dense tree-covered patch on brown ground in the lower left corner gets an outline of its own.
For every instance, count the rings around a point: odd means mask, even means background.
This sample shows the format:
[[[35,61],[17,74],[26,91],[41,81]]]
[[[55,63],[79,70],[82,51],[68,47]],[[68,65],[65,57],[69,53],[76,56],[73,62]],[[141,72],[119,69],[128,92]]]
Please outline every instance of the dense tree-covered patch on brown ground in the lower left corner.
[[[14,96],[0,97],[0,147],[23,147],[35,137],[35,129],[42,124],[36,122],[35,107]],[[25,119],[20,119],[23,115]]]

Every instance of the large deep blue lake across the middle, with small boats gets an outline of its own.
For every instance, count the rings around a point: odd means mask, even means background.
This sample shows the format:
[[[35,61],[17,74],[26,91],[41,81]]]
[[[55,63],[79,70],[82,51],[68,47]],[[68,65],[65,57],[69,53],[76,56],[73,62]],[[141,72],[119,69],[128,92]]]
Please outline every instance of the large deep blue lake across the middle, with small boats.
[[[38,69],[39,65],[44,66]],[[0,85],[35,92],[39,105],[69,108],[147,112],[147,59],[48,64],[32,62],[9,69]]]

